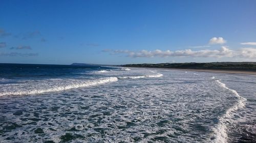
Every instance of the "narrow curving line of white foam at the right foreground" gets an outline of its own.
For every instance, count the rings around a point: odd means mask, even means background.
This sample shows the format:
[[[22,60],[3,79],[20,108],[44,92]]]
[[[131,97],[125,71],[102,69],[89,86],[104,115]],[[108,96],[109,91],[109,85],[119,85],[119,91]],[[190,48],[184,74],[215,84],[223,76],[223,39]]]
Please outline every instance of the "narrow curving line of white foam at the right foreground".
[[[211,77],[211,79],[215,79],[215,77]],[[219,83],[219,85],[221,87],[232,92],[234,94],[234,96],[236,96],[238,98],[238,102],[235,105],[233,105],[231,108],[226,110],[225,114],[219,118],[219,124],[213,129],[213,131],[215,133],[215,139],[213,140],[213,142],[227,142],[228,136],[227,136],[226,123],[231,122],[230,119],[231,119],[231,117],[234,116],[234,112],[236,110],[238,110],[239,108],[243,108],[245,106],[246,99],[241,97],[237,93],[237,91],[227,88],[226,84],[222,83],[220,81],[220,79],[217,79],[216,81]]]

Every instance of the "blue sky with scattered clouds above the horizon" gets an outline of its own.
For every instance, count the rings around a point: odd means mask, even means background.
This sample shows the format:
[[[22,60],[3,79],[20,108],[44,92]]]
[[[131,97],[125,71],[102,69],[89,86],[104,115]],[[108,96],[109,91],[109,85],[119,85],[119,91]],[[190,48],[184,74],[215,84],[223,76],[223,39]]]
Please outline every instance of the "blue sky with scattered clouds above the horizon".
[[[0,63],[256,62],[256,1],[0,1]]]

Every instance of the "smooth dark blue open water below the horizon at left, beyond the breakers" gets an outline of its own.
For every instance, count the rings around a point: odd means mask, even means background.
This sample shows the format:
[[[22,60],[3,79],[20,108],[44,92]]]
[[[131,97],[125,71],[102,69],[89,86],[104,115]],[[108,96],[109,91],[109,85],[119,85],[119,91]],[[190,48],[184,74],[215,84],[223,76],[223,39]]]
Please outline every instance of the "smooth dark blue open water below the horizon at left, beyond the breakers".
[[[10,79],[46,79],[78,77],[82,72],[117,69],[104,66],[0,64],[0,77]]]

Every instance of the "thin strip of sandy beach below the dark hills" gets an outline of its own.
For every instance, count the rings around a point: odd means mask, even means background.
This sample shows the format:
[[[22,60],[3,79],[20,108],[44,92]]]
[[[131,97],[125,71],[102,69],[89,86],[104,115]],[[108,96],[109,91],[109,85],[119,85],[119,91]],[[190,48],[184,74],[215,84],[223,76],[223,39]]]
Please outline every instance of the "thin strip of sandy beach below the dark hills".
[[[133,67],[133,68],[148,68],[148,67]],[[155,69],[256,75],[256,72],[253,72],[253,71],[206,70],[206,69],[172,69],[172,68],[155,68]]]

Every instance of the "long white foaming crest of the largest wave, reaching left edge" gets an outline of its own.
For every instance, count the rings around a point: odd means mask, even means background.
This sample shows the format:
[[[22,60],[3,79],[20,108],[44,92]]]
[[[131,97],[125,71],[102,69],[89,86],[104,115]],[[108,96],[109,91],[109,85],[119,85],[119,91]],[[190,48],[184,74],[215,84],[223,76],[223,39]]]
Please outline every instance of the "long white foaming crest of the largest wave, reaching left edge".
[[[107,82],[113,82],[117,81],[117,77],[106,77],[106,78],[100,78],[100,79],[94,79],[94,80],[87,80],[87,81],[77,81],[77,82],[71,82],[71,84],[66,85],[58,85],[56,87],[36,87],[36,89],[27,89],[26,88],[18,88],[15,92],[7,91],[0,93],[0,96],[6,96],[6,95],[29,95],[29,94],[41,94],[46,92],[57,92],[57,91],[63,91],[63,90],[70,90],[70,89],[76,89],[76,88],[82,88],[82,87],[89,87],[93,85],[98,84],[104,84]],[[45,83],[44,85],[47,85]],[[32,86],[32,85],[29,85]],[[25,91],[24,91],[25,90]]]

